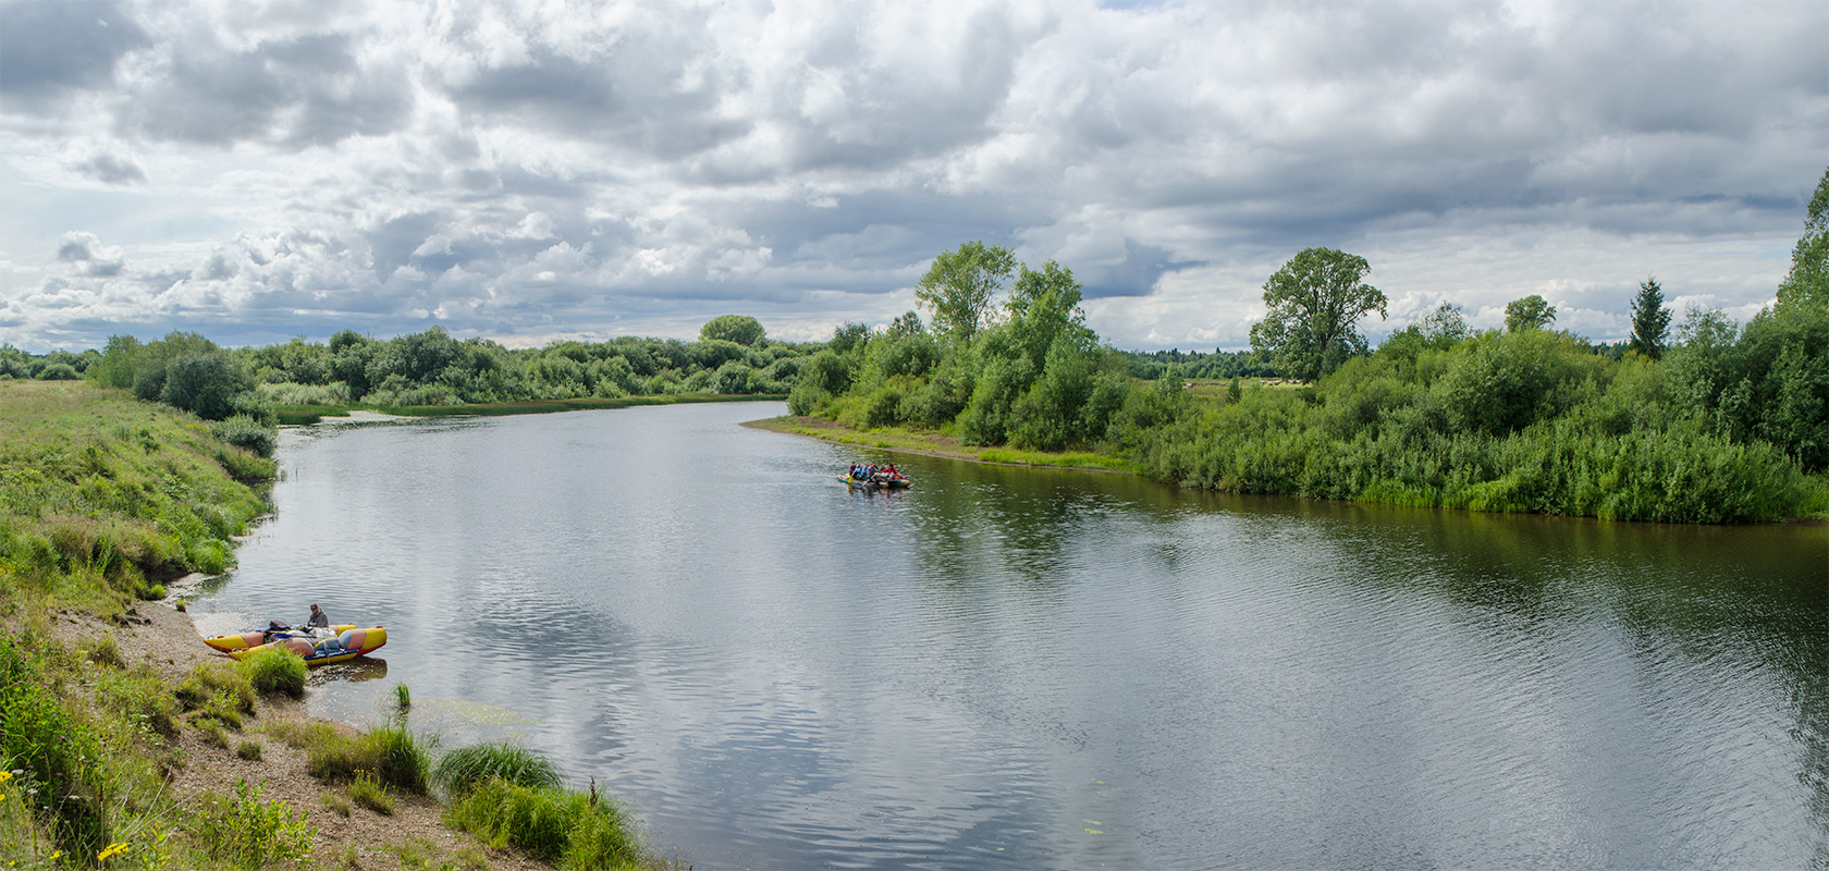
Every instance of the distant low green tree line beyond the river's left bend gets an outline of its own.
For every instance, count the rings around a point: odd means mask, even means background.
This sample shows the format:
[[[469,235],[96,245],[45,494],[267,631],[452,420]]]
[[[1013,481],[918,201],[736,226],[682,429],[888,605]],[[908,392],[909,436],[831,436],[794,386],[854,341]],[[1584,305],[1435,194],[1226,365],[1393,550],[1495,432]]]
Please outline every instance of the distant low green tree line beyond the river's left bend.
[[[754,317],[724,315],[697,342],[618,337],[512,349],[455,339],[443,328],[395,339],[344,329],[329,342],[293,339],[265,348],[221,348],[174,331],[102,349],[29,355],[0,346],[0,379],[88,379],[130,390],[212,421],[225,441],[273,452],[280,408],[437,406],[534,399],[669,393],[785,395],[801,360],[821,342],[777,342]]]

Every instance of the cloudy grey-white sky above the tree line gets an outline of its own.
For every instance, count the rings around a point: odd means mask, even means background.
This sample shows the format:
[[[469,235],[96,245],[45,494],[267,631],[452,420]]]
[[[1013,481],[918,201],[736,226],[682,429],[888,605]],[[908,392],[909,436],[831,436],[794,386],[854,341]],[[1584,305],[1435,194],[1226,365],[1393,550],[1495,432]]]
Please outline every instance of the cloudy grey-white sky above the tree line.
[[[1639,282],[1745,320],[1829,168],[1829,2],[0,2],[0,342],[772,339],[964,242],[1130,349],[1306,247],[1374,337]]]

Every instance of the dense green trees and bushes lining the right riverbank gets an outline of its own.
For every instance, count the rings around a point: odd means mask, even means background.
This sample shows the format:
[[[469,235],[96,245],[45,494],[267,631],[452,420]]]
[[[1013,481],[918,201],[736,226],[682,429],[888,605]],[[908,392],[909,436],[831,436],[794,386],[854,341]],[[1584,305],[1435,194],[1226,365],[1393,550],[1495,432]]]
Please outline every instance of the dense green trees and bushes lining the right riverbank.
[[[1372,349],[1383,315],[1364,258],[1299,253],[1264,284],[1238,355],[1125,353],[1085,326],[1081,287],[1048,262],[973,242],[935,258],[916,311],[812,355],[794,414],[916,426],[966,445],[1123,456],[1191,487],[1619,520],[1741,522],[1829,511],[1829,172],[1792,269],[1747,324],[1692,309],[1675,328],[1657,278],[1626,342],[1555,329],[1542,296],[1505,328],[1441,304]],[[1267,366],[1300,388],[1240,384]],[[1194,371],[1227,390],[1187,388]],[[1150,375],[1145,381],[1138,375]]]

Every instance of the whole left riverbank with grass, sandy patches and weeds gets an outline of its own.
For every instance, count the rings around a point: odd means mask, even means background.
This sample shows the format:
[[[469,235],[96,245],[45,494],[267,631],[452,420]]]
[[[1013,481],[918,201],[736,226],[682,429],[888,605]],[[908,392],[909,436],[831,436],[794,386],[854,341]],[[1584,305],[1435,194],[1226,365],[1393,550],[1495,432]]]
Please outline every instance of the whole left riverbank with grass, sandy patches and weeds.
[[[273,474],[168,406],[0,381],[0,864],[660,867],[593,794],[446,809],[404,692],[368,730],[304,719],[304,662],[209,655],[150,602],[232,564]]]

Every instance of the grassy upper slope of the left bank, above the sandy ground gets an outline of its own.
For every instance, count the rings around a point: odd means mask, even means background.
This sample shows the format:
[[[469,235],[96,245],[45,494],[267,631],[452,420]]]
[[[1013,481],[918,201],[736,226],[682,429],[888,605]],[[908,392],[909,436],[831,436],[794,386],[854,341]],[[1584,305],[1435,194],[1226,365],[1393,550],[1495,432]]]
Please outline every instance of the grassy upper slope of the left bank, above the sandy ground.
[[[221,571],[267,511],[271,459],[201,421],[70,381],[0,381],[0,598],[117,615]]]

